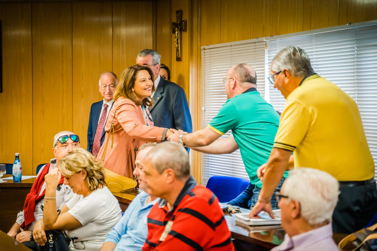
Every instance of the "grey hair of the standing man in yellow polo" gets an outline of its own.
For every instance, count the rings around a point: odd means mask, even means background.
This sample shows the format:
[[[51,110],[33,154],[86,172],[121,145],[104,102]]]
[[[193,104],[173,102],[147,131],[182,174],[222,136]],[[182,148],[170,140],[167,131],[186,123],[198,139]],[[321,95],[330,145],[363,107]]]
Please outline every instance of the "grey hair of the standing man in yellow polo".
[[[314,72],[308,54],[296,46],[280,50],[272,59],[271,65],[271,70],[276,72],[288,68],[296,78],[305,78]]]

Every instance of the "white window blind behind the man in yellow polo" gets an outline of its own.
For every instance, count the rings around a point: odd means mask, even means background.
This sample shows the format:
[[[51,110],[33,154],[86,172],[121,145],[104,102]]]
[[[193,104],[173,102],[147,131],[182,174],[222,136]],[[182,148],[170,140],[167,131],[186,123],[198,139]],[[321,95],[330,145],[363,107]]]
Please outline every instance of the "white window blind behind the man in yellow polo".
[[[315,33],[267,41],[267,64],[287,46],[304,49],[316,73],[342,88],[357,103],[372,152],[377,163],[377,25]],[[285,99],[269,84],[268,102],[283,111]],[[375,172],[377,178],[377,172]]]

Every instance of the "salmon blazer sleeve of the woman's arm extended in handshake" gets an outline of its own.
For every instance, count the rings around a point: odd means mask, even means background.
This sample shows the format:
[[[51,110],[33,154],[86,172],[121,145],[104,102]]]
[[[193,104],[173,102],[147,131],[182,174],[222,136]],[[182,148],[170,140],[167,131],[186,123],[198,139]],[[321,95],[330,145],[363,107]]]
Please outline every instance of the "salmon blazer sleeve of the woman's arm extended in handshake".
[[[143,117],[142,111],[129,99],[120,100],[116,107],[116,119],[127,132],[136,140],[146,142],[158,142],[165,140],[167,128],[150,127],[144,124],[139,117]]]

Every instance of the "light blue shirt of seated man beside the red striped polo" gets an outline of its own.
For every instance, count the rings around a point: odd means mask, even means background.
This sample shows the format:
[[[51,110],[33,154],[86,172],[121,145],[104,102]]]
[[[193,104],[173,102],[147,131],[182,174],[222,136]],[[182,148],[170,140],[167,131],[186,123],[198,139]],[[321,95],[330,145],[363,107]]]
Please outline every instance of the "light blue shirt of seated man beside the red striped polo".
[[[142,192],[127,207],[123,217],[107,235],[105,242],[114,242],[114,251],[140,251],[148,235],[147,216],[159,198],[146,204],[149,194]]]

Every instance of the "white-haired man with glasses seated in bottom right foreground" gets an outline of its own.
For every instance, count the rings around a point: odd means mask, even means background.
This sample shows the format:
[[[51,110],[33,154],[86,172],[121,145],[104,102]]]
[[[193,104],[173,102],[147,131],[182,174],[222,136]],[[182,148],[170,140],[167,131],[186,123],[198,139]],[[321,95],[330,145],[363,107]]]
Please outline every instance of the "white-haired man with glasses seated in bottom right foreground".
[[[333,176],[313,168],[290,172],[281,193],[284,242],[271,251],[337,251],[331,216],[338,201],[339,183]]]

